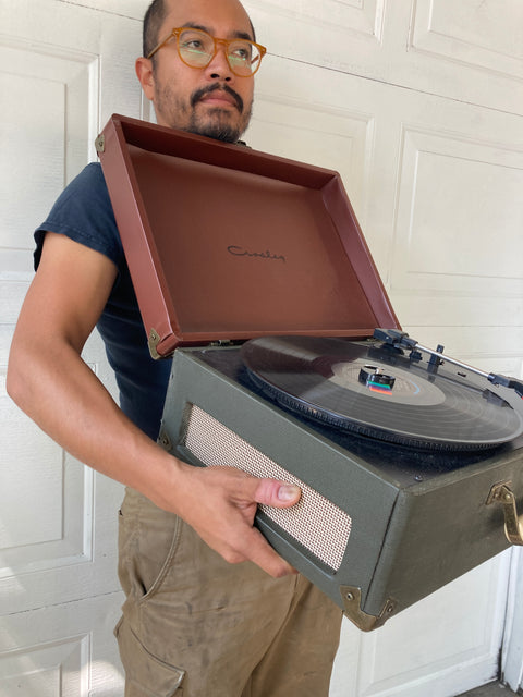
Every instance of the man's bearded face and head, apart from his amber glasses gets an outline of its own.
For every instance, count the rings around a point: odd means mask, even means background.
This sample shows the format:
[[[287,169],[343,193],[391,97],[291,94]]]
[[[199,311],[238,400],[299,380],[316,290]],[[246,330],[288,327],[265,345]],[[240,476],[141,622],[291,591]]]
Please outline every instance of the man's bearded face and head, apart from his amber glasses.
[[[167,2],[169,11],[159,41],[180,26],[198,27],[217,38],[254,40],[248,15],[238,0]],[[195,69],[182,62],[172,39],[155,54],[155,64],[138,59],[136,72],[160,125],[231,143],[248,125],[254,77],[240,77],[231,71],[222,45],[207,68]]]

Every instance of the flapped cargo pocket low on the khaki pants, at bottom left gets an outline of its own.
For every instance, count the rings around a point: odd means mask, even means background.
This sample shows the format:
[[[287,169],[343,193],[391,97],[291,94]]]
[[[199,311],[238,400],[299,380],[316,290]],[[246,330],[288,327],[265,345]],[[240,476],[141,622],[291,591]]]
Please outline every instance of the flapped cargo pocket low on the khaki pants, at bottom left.
[[[183,697],[184,670],[153,656],[124,619],[114,634],[125,667],[125,697]]]

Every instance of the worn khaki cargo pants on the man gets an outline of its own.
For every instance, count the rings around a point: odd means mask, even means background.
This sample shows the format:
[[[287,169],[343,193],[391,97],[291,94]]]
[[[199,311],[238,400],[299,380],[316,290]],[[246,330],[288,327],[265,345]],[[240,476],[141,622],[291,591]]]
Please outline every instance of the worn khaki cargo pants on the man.
[[[327,697],[342,613],[303,576],[228,564],[132,490],[119,573],[125,697]]]

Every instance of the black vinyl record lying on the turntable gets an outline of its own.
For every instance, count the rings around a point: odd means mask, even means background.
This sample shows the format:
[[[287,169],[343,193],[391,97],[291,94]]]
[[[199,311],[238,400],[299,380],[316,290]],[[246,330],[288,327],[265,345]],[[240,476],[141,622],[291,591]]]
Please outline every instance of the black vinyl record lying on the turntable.
[[[242,346],[254,384],[282,406],[335,428],[414,448],[482,450],[513,440],[523,419],[474,375],[422,356],[316,337],[269,337]]]

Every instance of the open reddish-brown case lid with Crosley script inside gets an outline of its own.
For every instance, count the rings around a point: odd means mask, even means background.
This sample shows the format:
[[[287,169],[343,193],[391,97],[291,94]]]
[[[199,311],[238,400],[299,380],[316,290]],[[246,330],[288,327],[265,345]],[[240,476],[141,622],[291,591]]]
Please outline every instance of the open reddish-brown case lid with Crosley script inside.
[[[337,172],[120,115],[97,150],[154,354],[399,328]]]

